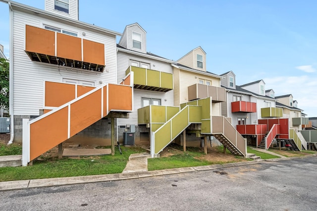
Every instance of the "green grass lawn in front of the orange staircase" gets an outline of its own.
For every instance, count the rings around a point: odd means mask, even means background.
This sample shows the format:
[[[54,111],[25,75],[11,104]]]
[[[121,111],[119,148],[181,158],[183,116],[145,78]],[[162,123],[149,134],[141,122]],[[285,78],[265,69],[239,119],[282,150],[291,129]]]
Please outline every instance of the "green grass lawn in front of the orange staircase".
[[[145,152],[139,147],[121,146],[121,149],[122,155],[115,148],[114,156],[46,158],[33,161],[32,166],[0,167],[0,181],[121,173],[131,154]]]

